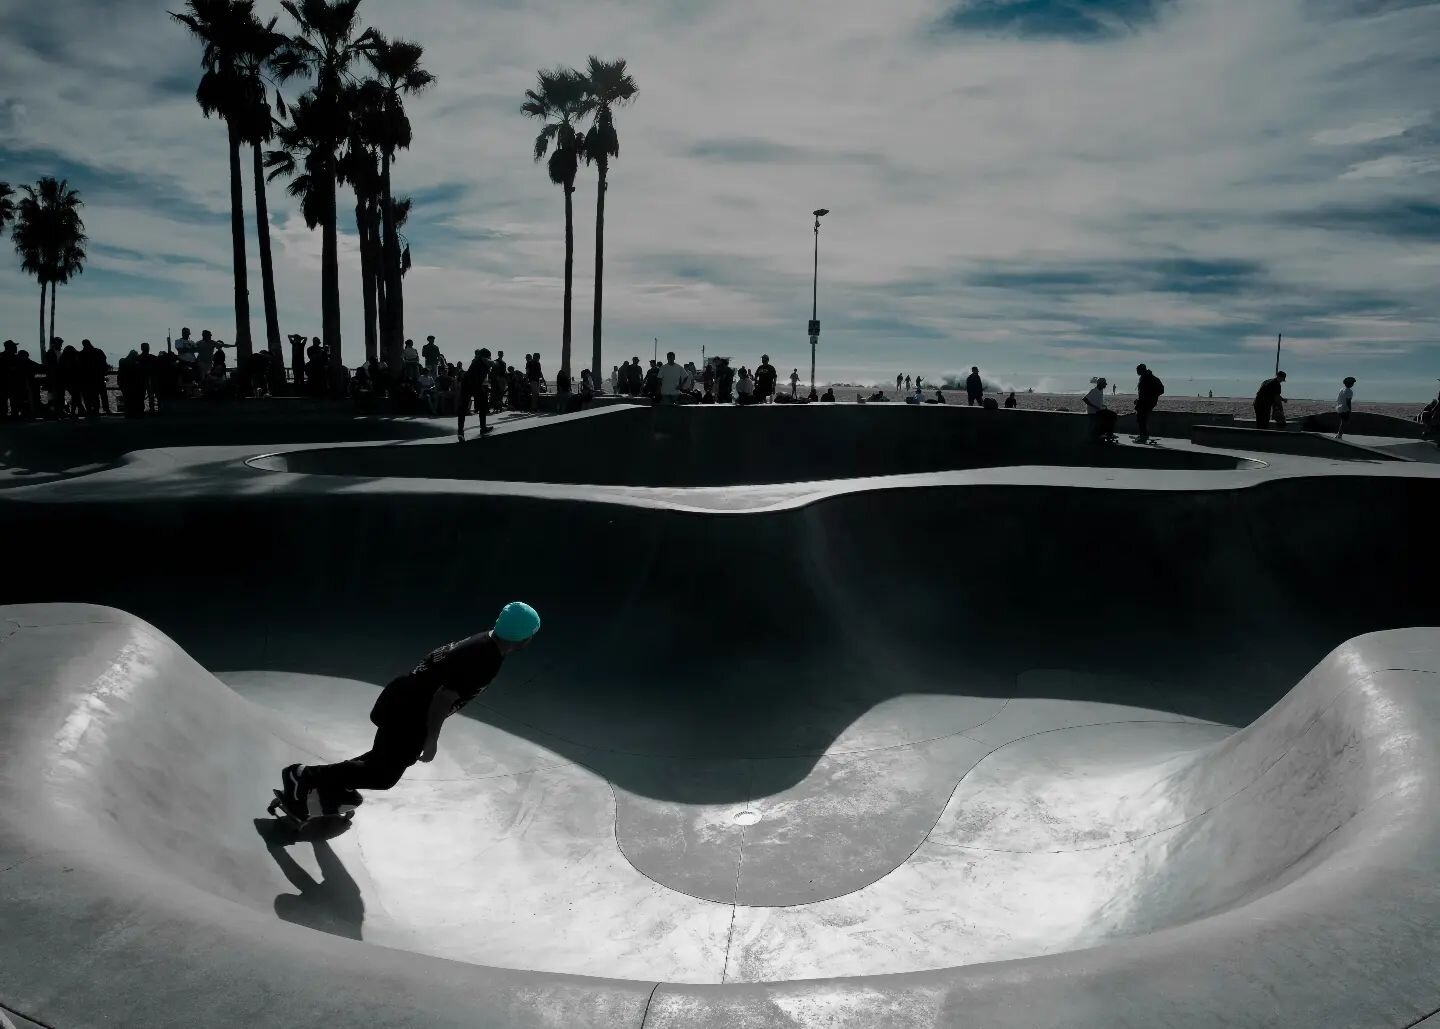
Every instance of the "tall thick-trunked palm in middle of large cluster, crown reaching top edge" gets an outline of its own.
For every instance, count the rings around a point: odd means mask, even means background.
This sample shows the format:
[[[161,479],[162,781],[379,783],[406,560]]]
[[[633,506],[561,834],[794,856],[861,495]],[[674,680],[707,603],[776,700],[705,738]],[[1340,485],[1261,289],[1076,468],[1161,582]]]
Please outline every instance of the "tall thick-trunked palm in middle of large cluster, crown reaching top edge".
[[[350,66],[370,50],[374,33],[359,30],[360,0],[282,0],[295,20],[298,35],[289,37],[271,59],[281,79],[310,76],[311,125],[307,128],[307,174],[320,203],[320,308],[321,337],[331,364],[340,366],[340,246],[337,239],[336,178],[338,150],[350,135],[346,85]],[[282,144],[284,145],[284,144]],[[288,147],[287,147],[288,148]],[[291,184],[294,191],[294,183]],[[307,219],[308,222],[308,219]],[[314,226],[311,226],[314,227]]]

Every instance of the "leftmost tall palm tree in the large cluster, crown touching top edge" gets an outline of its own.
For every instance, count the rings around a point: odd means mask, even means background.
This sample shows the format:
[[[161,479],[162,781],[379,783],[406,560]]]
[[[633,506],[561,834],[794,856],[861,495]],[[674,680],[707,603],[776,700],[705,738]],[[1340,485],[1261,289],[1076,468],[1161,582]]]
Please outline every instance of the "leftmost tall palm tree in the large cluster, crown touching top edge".
[[[246,53],[255,42],[253,0],[186,0],[184,13],[170,17],[204,45],[200,85],[194,91],[200,112],[225,122],[230,148],[230,258],[235,266],[236,367],[251,367],[251,288],[245,263],[245,191],[240,178],[240,142],[253,124],[255,82],[246,71]]]

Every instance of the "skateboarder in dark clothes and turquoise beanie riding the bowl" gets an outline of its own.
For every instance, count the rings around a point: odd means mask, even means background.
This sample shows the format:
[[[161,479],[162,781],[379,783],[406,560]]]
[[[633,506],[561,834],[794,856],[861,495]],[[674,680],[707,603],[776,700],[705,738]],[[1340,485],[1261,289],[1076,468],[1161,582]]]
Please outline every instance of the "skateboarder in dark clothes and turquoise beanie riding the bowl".
[[[445,720],[475,699],[500,672],[505,655],[528,646],[540,616],[526,603],[500,610],[487,632],[436,648],[415,671],[380,691],[370,710],[376,725],[369,751],[338,764],[291,764],[281,771],[279,803],[292,817],[333,813],[353,790],[389,790],[416,761],[435,760]]]

